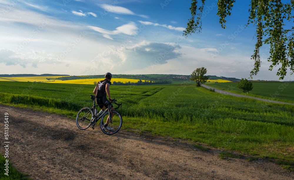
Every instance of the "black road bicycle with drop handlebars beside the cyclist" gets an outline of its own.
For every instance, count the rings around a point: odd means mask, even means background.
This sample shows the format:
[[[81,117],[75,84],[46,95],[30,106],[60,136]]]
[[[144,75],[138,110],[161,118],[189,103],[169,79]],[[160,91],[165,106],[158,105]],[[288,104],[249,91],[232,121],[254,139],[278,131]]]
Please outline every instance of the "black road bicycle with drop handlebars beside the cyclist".
[[[107,108],[104,110],[104,112],[101,115],[95,116],[95,107],[99,105],[95,105],[95,95],[91,95],[91,99],[93,100],[93,106],[92,108],[89,107],[84,107],[82,108],[78,114],[76,115],[76,125],[78,126],[79,129],[85,130],[88,127],[92,125],[92,128],[94,129],[95,124],[99,121],[100,119],[100,127],[103,133],[107,135],[112,135],[118,132],[118,130],[121,128],[121,125],[123,123],[123,118],[120,113],[118,113],[116,110],[111,110],[111,108]],[[112,99],[110,102],[107,104],[109,105],[108,107],[111,107],[111,104],[114,103],[118,105],[118,109],[122,103],[118,104],[116,103],[117,100]],[[109,122],[108,123],[108,130],[107,128],[103,128],[105,123],[103,122]],[[112,129],[113,128],[113,129]]]

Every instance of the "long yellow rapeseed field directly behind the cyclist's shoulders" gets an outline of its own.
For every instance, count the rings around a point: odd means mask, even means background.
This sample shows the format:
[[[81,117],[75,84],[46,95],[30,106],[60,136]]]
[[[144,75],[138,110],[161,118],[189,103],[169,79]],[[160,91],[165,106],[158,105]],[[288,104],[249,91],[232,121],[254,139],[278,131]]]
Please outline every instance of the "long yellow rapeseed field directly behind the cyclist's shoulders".
[[[99,78],[99,79],[76,79],[76,80],[64,80],[64,81],[54,81],[54,82],[48,82],[48,83],[67,83],[67,84],[94,84],[94,81],[99,82],[101,80],[104,80],[104,78]],[[111,82],[113,81],[120,81],[123,83],[126,82],[138,82],[138,79],[123,79],[123,78],[113,78],[111,79]]]

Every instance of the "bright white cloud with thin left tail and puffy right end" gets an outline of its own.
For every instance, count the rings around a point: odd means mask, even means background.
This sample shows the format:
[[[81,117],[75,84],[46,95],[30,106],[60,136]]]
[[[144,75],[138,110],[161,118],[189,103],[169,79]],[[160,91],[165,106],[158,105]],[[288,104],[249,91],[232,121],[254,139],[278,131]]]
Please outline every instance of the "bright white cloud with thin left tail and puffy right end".
[[[110,37],[110,35],[116,35],[120,33],[127,34],[127,35],[136,35],[137,34],[136,30],[138,29],[134,22],[124,24],[120,27],[117,27],[116,30],[113,30],[113,31],[109,31],[109,30],[102,29],[100,27],[95,27],[95,26],[87,26],[87,27],[90,29],[93,29],[94,31],[102,33],[103,37],[108,39],[113,39],[112,37]]]

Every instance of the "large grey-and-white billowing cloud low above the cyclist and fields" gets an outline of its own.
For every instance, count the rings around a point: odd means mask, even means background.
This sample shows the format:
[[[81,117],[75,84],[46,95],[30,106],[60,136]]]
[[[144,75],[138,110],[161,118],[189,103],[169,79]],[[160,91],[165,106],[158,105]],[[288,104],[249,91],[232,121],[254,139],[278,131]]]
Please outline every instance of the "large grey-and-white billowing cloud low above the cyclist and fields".
[[[94,67],[109,68],[116,73],[125,73],[134,69],[143,69],[180,57],[181,47],[175,43],[140,42],[128,47],[110,46],[92,60]]]

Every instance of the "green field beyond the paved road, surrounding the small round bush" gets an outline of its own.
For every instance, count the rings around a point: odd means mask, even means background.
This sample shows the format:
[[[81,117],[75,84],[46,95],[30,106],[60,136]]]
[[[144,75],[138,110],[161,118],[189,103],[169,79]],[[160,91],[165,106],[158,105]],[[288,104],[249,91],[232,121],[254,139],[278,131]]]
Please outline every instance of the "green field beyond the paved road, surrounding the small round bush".
[[[206,83],[206,85],[245,95],[237,87],[238,82]],[[248,94],[250,96],[294,103],[294,82],[252,82],[252,85],[253,90]]]

